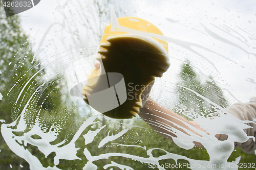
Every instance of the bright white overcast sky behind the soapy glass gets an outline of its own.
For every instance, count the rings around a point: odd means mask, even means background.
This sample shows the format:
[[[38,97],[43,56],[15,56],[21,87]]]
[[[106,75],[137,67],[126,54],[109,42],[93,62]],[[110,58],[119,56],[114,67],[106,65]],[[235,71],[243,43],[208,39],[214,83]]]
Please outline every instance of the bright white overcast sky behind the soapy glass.
[[[44,0],[19,14],[24,30],[33,40],[34,49],[38,51],[42,45],[48,49],[45,56],[42,53],[41,56],[46,58],[54,47],[62,46],[55,41],[54,45],[46,47],[47,40],[56,40],[56,35],[69,39],[67,24],[82,26],[85,21],[79,19],[78,11],[90,10],[86,3],[81,5],[84,9],[77,9],[80,8],[77,1]],[[256,96],[256,1],[144,0],[112,3],[115,9],[120,8],[128,16],[154,23],[166,37],[172,38],[169,42],[172,64],[163,80],[175,83],[172,76],[177,73],[181,61],[188,58],[202,77],[214,77],[231,103],[248,102],[250,97]],[[71,14],[65,18],[62,9],[66,12],[69,9]],[[70,22],[72,17],[74,21]],[[65,28],[60,26],[63,21]],[[60,23],[58,27],[53,26],[55,22]],[[83,37],[86,33],[79,34]]]

